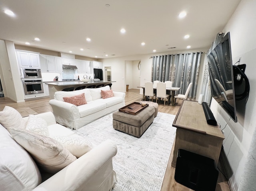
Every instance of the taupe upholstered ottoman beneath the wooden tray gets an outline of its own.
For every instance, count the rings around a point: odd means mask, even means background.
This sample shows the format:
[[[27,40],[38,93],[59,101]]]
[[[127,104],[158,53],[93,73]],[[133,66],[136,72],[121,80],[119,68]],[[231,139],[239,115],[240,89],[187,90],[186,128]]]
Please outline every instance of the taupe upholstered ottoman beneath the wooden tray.
[[[113,128],[140,138],[154,121],[155,108],[148,106],[137,115],[116,111],[113,113]]]

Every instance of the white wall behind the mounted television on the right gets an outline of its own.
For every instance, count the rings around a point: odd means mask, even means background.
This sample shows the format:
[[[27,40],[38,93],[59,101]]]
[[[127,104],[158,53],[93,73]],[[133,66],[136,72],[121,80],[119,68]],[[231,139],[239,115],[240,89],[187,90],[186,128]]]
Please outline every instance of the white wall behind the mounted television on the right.
[[[242,0],[223,30],[224,33],[230,32],[233,64],[239,60],[239,57],[241,57],[240,64],[246,64],[245,74],[250,82],[250,95],[245,111],[238,110],[238,122],[234,123],[232,120],[229,121],[229,116],[215,100],[212,99],[211,103],[211,110],[217,122],[220,122],[221,129],[226,126],[223,146],[235,190],[238,190],[241,177],[244,176],[244,166],[256,126],[255,10],[255,0]]]

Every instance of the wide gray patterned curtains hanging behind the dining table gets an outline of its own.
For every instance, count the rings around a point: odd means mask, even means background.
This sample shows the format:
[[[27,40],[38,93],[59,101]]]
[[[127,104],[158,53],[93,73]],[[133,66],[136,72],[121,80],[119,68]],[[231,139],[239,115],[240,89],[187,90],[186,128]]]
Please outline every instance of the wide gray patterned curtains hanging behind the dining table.
[[[180,87],[179,94],[185,94],[189,83],[192,82],[188,98],[195,100],[201,55],[202,52],[154,56],[152,82],[172,81],[173,87]]]

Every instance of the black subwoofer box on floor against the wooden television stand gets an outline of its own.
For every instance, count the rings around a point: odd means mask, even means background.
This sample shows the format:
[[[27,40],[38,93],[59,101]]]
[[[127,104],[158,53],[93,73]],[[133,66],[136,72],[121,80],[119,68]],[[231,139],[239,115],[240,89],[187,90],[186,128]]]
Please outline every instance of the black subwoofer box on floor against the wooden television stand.
[[[195,191],[215,191],[218,169],[214,159],[178,150],[174,179]]]

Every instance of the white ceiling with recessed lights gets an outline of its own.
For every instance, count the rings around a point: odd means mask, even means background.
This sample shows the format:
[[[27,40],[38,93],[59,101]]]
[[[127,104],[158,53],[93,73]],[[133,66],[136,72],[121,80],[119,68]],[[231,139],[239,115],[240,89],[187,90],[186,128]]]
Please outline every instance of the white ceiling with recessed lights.
[[[0,39],[85,57],[209,48],[240,0],[1,0]],[[110,6],[106,6],[106,4]],[[4,10],[10,9],[10,17]],[[178,14],[186,11],[185,18]],[[125,28],[126,33],[120,33]],[[190,38],[184,39],[189,34]],[[35,41],[34,38],[40,38]],[[91,41],[86,41],[90,38]],[[145,45],[142,46],[141,43]],[[176,48],[172,48],[176,47]],[[84,50],[80,50],[83,48]],[[108,56],[106,56],[106,54]]]

